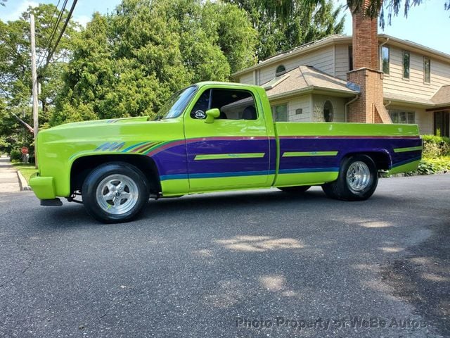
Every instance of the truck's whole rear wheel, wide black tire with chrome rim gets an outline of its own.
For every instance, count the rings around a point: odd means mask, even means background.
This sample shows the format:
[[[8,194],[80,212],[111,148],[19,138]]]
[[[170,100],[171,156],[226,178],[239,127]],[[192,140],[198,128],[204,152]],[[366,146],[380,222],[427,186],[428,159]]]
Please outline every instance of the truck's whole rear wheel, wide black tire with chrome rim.
[[[354,155],[342,160],[338,180],[323,184],[322,189],[332,199],[364,201],[372,196],[377,185],[378,170],[372,158]]]

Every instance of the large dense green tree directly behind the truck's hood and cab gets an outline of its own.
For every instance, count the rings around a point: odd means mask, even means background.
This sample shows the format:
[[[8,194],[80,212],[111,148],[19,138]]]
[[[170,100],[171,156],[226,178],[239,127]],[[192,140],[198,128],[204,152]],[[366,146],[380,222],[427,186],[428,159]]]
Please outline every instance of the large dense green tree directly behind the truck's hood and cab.
[[[253,64],[255,36],[230,4],[124,0],[77,38],[51,123],[153,116],[182,87]]]

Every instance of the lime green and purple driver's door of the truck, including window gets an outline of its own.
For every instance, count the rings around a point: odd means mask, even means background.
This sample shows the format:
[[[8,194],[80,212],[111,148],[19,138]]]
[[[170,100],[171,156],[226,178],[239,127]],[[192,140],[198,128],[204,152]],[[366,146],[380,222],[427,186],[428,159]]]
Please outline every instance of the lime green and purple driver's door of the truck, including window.
[[[270,140],[255,93],[203,87],[190,107],[184,115],[184,132],[191,192],[271,184]],[[205,123],[211,108],[218,108],[220,116]]]

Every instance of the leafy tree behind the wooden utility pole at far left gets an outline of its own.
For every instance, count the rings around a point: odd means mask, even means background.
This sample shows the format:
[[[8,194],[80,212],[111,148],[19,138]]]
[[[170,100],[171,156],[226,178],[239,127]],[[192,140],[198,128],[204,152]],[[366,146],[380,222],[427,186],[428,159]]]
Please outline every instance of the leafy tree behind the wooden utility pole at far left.
[[[0,113],[1,151],[11,151],[13,146],[30,146],[32,137],[28,132],[23,135],[24,127],[13,117],[20,115],[31,123],[30,96],[32,92],[30,62],[30,13],[36,18],[37,60],[44,61],[48,42],[56,25],[58,11],[56,6],[40,4],[28,8],[20,19],[4,23],[0,20],[0,101],[3,108]],[[63,13],[65,20],[67,12]],[[62,24],[56,31],[60,32]],[[71,37],[77,34],[79,25],[70,21],[65,35],[60,40],[56,53],[44,71],[44,62],[39,64],[38,77],[41,84],[39,101],[39,123],[45,124],[49,118],[50,107],[61,87],[61,76],[65,61],[70,55]],[[54,41],[53,41],[54,43]],[[53,46],[53,45],[52,45]],[[25,117],[23,113],[25,112]]]

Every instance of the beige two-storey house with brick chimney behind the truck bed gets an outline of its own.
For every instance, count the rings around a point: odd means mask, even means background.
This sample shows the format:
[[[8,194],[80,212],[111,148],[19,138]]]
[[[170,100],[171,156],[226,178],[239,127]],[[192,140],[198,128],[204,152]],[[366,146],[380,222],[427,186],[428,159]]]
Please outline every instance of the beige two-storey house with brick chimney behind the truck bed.
[[[233,74],[266,89],[274,119],[417,123],[450,136],[450,55],[378,34],[353,15],[353,37],[332,35]]]

